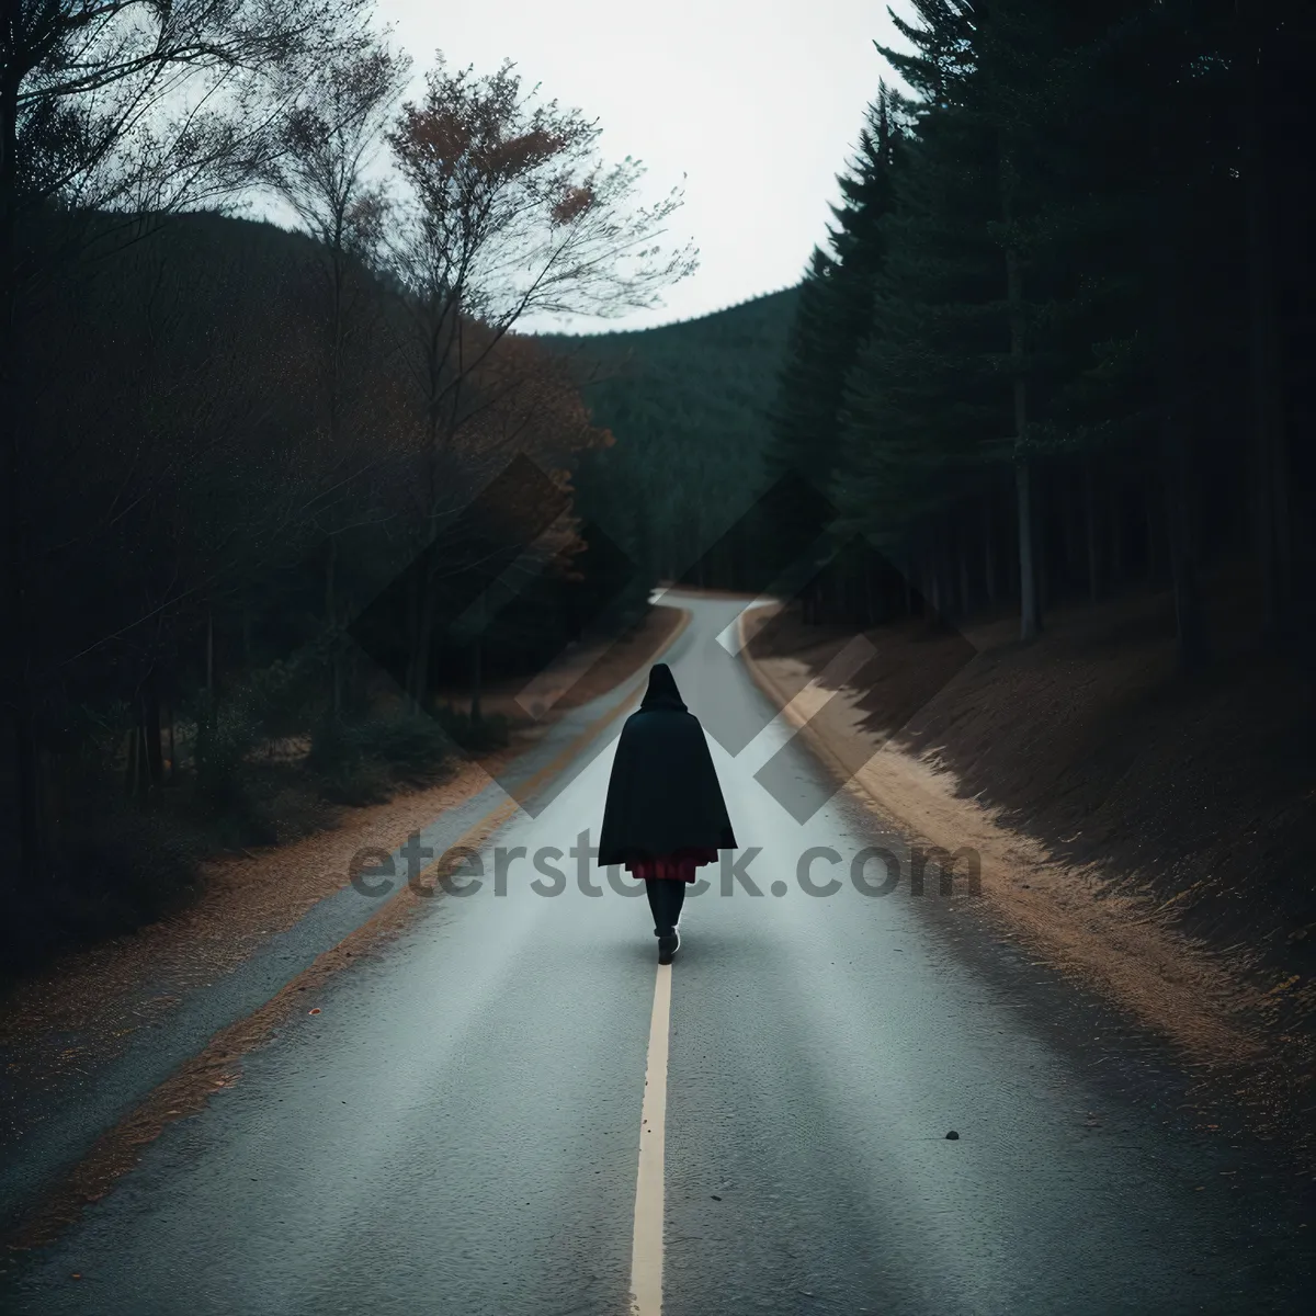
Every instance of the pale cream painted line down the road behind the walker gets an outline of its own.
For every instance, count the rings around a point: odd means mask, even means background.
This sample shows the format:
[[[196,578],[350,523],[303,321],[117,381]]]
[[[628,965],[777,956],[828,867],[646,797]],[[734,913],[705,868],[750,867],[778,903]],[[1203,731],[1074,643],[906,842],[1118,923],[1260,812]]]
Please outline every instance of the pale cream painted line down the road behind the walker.
[[[663,1146],[670,1030],[671,965],[659,965],[649,1021],[649,1059],[640,1120],[636,1227],[630,1240],[630,1316],[662,1316]]]

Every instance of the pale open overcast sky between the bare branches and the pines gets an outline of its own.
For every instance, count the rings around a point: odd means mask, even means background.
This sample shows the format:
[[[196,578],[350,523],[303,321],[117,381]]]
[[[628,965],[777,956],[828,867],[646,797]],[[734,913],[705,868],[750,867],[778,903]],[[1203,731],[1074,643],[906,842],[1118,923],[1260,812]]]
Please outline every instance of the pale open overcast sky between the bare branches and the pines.
[[[442,50],[451,66],[517,64],[597,118],[609,163],[647,166],[645,201],[676,186],[671,234],[700,267],[665,305],[608,321],[522,328],[640,329],[717,311],[795,283],[825,236],[836,175],[878,80],[873,41],[899,46],[880,0],[378,0],[417,82]],[[898,5],[898,11],[903,5]],[[687,175],[684,179],[682,175]]]

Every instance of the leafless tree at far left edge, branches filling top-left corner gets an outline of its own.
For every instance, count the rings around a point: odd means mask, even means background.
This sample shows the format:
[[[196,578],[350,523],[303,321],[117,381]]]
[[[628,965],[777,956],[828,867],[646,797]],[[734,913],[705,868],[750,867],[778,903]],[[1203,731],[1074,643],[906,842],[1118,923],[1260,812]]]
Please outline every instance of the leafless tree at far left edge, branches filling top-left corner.
[[[290,70],[359,41],[368,0],[3,0],[0,8],[0,700],[12,728],[18,861],[43,867],[28,644],[26,380],[21,297],[67,249],[50,224],[232,196],[276,139]],[[275,76],[278,75],[278,76]],[[67,229],[67,222],[66,222]],[[38,238],[39,233],[39,238]],[[54,257],[53,249],[54,247]]]

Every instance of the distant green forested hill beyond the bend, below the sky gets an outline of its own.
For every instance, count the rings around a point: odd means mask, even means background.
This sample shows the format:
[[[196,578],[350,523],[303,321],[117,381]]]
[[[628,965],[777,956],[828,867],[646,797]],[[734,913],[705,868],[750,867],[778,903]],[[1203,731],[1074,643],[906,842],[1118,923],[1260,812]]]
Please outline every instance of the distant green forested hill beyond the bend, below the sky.
[[[644,576],[694,566],[705,583],[704,550],[762,494],[797,299],[783,288],[658,329],[538,340],[571,362],[592,420],[617,440],[582,458],[576,483]]]

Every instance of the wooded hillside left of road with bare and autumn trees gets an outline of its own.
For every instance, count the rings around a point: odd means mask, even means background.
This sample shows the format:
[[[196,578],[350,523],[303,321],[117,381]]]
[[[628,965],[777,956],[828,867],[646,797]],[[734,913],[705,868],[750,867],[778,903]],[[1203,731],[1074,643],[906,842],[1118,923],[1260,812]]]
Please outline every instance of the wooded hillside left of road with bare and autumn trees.
[[[612,437],[513,330],[692,267],[511,64],[404,101],[368,0],[117,24],[0,50],[0,970],[443,779],[486,676],[644,613],[575,501]]]

